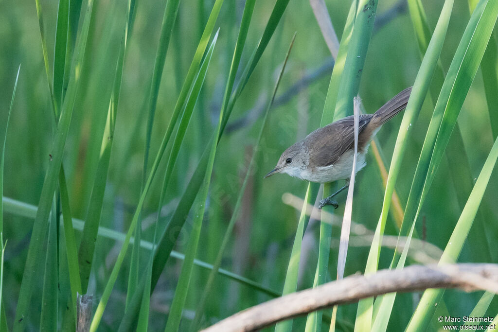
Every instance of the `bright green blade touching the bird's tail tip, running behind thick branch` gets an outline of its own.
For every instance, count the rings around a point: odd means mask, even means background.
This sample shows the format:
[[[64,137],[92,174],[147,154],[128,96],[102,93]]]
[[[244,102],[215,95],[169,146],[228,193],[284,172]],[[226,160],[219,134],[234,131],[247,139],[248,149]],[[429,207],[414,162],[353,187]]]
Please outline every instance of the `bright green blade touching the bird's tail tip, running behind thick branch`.
[[[382,241],[382,235],[384,233],[385,222],[387,220],[387,214],[389,211],[389,206],[391,203],[392,192],[394,191],[394,185],[399,174],[401,167],[401,161],[403,159],[406,150],[406,139],[408,133],[411,129],[411,123],[413,123],[424,102],[425,96],[430,87],[431,79],[434,75],[439,56],[441,54],[443,41],[446,38],[446,32],[448,29],[448,24],[453,8],[453,0],[446,0],[441,10],[434,34],[430,39],[430,42],[426,48],[425,56],[422,59],[422,64],[418,71],[417,77],[415,78],[415,83],[413,84],[412,93],[408,105],[403,114],[403,119],[401,121],[401,126],[396,138],[396,144],[394,146],[394,151],[391,159],[391,166],[389,169],[389,175],[387,177],[387,185],[384,193],[384,201],[382,204],[382,211],[379,217],[377,227],[375,229],[375,235],[370,248],[367,266],[365,268],[365,273],[374,273],[377,270],[378,259],[380,254],[380,244]],[[382,297],[382,305],[380,314],[377,314],[375,322],[373,324],[373,330],[383,331],[387,327],[388,319],[390,317],[390,311],[392,309],[393,299],[387,300],[389,295]],[[391,301],[389,303],[389,301]],[[385,303],[384,303],[385,302]],[[373,299],[365,299],[360,301],[362,309],[363,306],[370,307],[372,310]],[[359,305],[360,306],[360,305]]]

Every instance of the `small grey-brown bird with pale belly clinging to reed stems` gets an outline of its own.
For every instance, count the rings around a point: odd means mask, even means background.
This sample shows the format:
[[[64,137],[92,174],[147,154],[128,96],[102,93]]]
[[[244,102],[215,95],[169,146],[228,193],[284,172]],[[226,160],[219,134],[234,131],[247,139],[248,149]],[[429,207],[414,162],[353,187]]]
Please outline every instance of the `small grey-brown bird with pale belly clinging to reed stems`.
[[[356,172],[366,165],[365,155],[370,141],[380,126],[406,108],[411,87],[401,91],[373,114],[361,114],[358,120],[358,154]],[[327,183],[347,179],[344,187],[320,202],[338,207],[331,199],[349,186],[355,153],[353,115],[347,116],[310,133],[303,140],[285,150],[276,167],[265,178],[287,173],[301,180]]]

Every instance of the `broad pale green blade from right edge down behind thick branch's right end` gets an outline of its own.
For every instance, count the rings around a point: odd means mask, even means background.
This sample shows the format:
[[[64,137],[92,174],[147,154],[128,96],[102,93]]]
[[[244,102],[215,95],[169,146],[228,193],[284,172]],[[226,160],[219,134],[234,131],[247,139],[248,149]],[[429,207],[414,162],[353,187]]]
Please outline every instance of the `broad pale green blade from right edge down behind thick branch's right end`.
[[[486,14],[486,9],[483,15],[484,14]],[[482,51],[484,52],[484,49]],[[467,235],[469,234],[474,218],[476,217],[479,206],[481,205],[484,192],[486,190],[486,187],[488,186],[497,159],[498,139],[495,141],[495,144],[493,144],[488,158],[486,158],[486,162],[483,166],[481,174],[479,174],[476,185],[474,186],[474,189],[469,196],[469,200],[465,205],[464,211],[460,215],[460,218],[458,219],[457,224],[453,229],[448,244],[444,249],[443,255],[439,260],[439,265],[454,263],[457,261],[458,256],[460,255],[463,245],[467,239]],[[410,323],[406,328],[406,331],[423,331],[428,327],[431,322],[432,316],[436,311],[435,303],[439,302],[438,300],[443,296],[443,293],[444,289],[430,289],[424,292],[417,306],[417,309],[415,310],[415,313],[413,314]]]

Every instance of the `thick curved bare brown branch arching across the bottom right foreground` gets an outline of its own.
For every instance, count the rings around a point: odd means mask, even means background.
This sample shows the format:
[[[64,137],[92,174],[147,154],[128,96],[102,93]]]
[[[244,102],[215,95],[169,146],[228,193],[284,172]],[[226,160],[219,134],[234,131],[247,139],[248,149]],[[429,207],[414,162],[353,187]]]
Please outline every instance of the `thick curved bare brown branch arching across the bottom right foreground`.
[[[413,265],[402,270],[381,270],[368,276],[354,275],[264,302],[203,331],[255,331],[334,305],[357,302],[386,293],[427,288],[490,290],[496,293],[498,264]]]

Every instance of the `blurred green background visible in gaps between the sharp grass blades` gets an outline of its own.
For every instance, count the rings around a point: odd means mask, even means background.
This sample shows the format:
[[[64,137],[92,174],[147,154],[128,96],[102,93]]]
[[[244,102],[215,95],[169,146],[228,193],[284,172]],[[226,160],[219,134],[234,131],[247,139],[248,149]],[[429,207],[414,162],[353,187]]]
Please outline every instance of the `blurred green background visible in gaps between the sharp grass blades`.
[[[83,2],[85,8],[86,1]],[[122,233],[128,229],[141,192],[147,98],[165,2],[137,1],[134,26],[126,49],[119,114],[101,218],[101,226]],[[422,2],[429,25],[433,29],[443,1]],[[159,147],[213,3],[214,0],[180,2],[157,98],[151,140],[152,155],[155,155]],[[204,87],[189,123],[188,134],[173,171],[172,181],[168,186],[162,210],[163,221],[171,216],[178,204],[179,197],[197,166],[206,142],[216,128],[244,3],[242,0],[227,0],[222,6],[216,23],[216,28],[220,28],[220,36]],[[340,39],[351,1],[327,0],[326,3]],[[41,0],[40,5],[43,8],[43,27],[49,63],[52,66],[57,1]],[[79,70],[81,82],[63,159],[71,212],[73,218],[80,220],[85,219],[89,205],[94,182],[92,174],[97,167],[125,17],[125,1],[97,1],[94,6],[94,25],[90,29],[83,66]],[[390,11],[393,6],[397,6],[399,10]],[[248,62],[251,50],[257,46],[272,7],[273,1],[256,1],[242,57],[243,64]],[[456,1],[440,60],[445,70],[449,67],[469,17],[467,1]],[[369,113],[376,111],[402,89],[413,85],[421,61],[406,6],[402,3],[400,5],[395,0],[379,1],[376,20],[359,93],[364,108]],[[215,260],[250,157],[254,153],[263,111],[271,97],[276,77],[294,32],[297,32],[295,44],[278,88],[276,103],[270,110],[262,141],[255,155],[255,167],[249,177],[240,217],[222,261],[224,269],[247,277],[275,292],[281,292],[283,287],[300,213],[300,208],[296,210],[293,206],[285,204],[282,195],[291,193],[302,199],[307,183],[286,175],[277,175],[265,180],[263,176],[273,169],[285,148],[319,126],[331,73],[331,66],[324,65],[330,64],[332,58],[309,1],[289,2],[267,49],[235,105],[227,130],[218,146],[196,256],[209,263]],[[53,140],[53,114],[43,64],[36,6],[34,0],[0,0],[1,134],[5,129],[3,124],[19,64],[21,64],[19,83],[6,136],[3,195],[36,206]],[[440,89],[440,86],[437,89]],[[408,138],[407,153],[396,183],[396,192],[402,207],[406,204],[433,105],[428,98],[418,120],[413,123],[413,131]],[[457,148],[467,153],[474,178],[479,175],[494,141],[487,109],[483,80],[479,71],[458,118],[464,146]],[[377,134],[377,142],[382,148],[387,168],[400,122],[401,116],[398,116],[385,124]],[[452,144],[447,153],[451,154],[451,148]],[[357,177],[353,221],[373,231],[382,207],[384,187],[372,154],[369,154],[367,163],[368,166]],[[450,168],[459,167],[461,165],[458,162],[449,162],[443,158],[429,197],[420,213],[419,219],[423,222],[417,225],[418,237],[440,249],[445,247],[463,208],[457,201],[459,181],[453,179],[449,171]],[[164,172],[164,168],[163,160],[159,166],[159,174]],[[154,181],[141,214],[142,236],[148,241],[152,241],[154,236],[155,211],[162,186],[159,178]],[[498,176],[495,172],[479,213],[479,218],[482,218],[483,222],[475,224],[472,228],[459,261],[497,262],[497,185]],[[338,197],[341,207],[336,213],[339,216],[342,216],[344,211],[345,200],[345,193]],[[180,231],[175,247],[177,251],[186,250],[190,220],[187,219],[187,226]],[[32,223],[32,219],[9,213],[8,210],[4,213],[3,238],[7,239],[7,245],[3,305],[10,326],[15,313]],[[318,222],[310,221],[303,240],[298,289],[309,288],[313,284],[318,255],[318,229]],[[389,216],[385,233],[396,236],[398,231],[399,227],[392,216]],[[81,232],[76,231],[75,234],[78,240]],[[331,279],[335,279],[336,275],[339,236],[340,227],[334,227],[329,264]],[[355,237],[359,238],[356,242]],[[120,248],[119,241],[103,236],[99,236],[97,240],[88,291],[94,295],[96,301],[102,294]],[[352,234],[345,275],[357,271],[363,273],[369,248],[370,242],[365,240],[365,236],[362,241],[362,235]],[[130,252],[129,250],[127,257]],[[392,245],[382,249],[379,269],[389,266],[392,252]],[[141,254],[146,260],[149,251],[143,249]],[[435,259],[437,257],[427,261],[410,258],[410,262],[433,263]],[[100,325],[101,331],[114,331],[121,322],[126,295],[128,258],[124,264],[104,313]],[[164,328],[180,267],[181,261],[168,260],[159,284],[151,296],[150,331]],[[181,331],[189,326],[189,321],[195,315],[196,305],[208,273],[209,271],[205,269],[194,267],[180,325]],[[33,293],[33,303],[41,301],[42,281],[43,277],[40,275],[39,284]],[[69,288],[69,281],[60,278],[59,282],[60,292],[65,294],[64,291],[67,292]],[[468,294],[461,291],[447,291],[444,301],[452,316],[461,317],[470,313],[481,295],[481,292]],[[390,331],[399,331],[399,327],[406,326],[419,296],[419,293],[398,295],[389,323]],[[66,300],[65,296],[61,295],[62,297],[64,299],[59,302],[61,307],[65,306]],[[270,296],[247,285],[218,276],[214,292],[208,299],[203,324],[207,326],[269,299]],[[356,307],[356,304],[351,304],[339,308],[339,330],[353,330]],[[490,315],[494,316],[497,310],[498,301],[495,299],[489,309]],[[330,315],[330,311],[326,311],[326,314]],[[37,330],[38,320],[36,317],[30,318],[27,328]],[[302,331],[304,322],[305,317],[295,319],[294,330]]]

